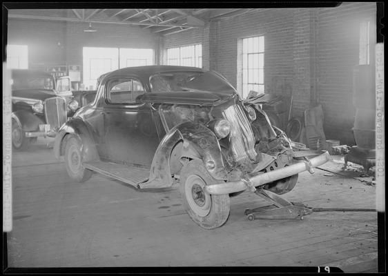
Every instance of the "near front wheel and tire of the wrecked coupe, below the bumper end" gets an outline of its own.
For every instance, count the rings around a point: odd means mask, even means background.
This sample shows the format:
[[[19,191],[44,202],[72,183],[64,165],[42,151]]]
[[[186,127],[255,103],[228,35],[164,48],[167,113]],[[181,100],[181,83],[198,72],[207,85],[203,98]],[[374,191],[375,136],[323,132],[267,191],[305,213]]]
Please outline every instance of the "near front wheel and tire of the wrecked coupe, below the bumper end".
[[[209,195],[204,186],[216,180],[200,160],[189,161],[181,170],[180,193],[188,215],[205,229],[222,226],[229,217],[229,195]]]

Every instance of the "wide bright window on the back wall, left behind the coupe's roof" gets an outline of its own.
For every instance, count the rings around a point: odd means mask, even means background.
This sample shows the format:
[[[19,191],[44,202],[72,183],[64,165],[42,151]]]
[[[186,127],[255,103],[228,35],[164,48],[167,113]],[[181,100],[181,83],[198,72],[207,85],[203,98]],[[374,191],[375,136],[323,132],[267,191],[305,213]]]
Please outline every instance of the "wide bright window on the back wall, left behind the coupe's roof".
[[[119,68],[153,65],[153,49],[84,47],[86,88],[96,88],[99,76]]]

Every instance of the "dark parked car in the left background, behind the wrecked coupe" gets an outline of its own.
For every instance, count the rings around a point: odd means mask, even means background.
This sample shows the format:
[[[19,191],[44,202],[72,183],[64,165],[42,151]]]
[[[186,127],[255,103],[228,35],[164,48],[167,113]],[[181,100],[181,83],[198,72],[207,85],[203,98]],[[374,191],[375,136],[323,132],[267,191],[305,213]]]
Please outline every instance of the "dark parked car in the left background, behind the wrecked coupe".
[[[70,79],[55,81],[48,72],[14,69],[12,81],[12,147],[27,150],[37,137],[54,137],[71,106]]]

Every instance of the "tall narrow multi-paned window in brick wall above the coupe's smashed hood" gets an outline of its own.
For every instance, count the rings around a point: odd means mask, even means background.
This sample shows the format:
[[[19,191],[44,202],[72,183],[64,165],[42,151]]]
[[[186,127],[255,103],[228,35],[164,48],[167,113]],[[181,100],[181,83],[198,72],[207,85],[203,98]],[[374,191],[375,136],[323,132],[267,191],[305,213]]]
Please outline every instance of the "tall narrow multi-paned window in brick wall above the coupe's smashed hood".
[[[242,39],[242,97],[264,93],[264,37]]]

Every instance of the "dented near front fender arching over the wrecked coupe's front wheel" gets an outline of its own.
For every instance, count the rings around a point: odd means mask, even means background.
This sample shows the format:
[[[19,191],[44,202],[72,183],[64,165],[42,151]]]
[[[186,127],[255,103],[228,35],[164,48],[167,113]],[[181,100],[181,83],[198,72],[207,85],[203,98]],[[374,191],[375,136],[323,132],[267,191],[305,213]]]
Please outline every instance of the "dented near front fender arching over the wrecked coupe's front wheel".
[[[173,154],[177,146],[179,152]],[[171,160],[171,156],[175,160]],[[215,134],[202,124],[186,121],[164,136],[155,152],[150,178],[146,183],[140,184],[140,188],[171,186],[171,163],[179,162],[184,157],[202,159],[212,177],[226,179],[221,148]]]

